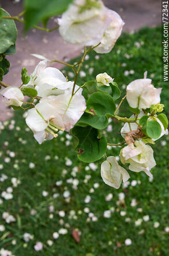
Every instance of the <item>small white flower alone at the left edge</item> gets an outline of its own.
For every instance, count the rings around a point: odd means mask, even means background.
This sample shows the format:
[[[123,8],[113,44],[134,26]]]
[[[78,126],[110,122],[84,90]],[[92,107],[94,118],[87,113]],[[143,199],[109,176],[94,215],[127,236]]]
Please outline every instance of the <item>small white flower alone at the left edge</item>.
[[[21,106],[23,104],[24,95],[17,87],[7,87],[1,91],[3,97],[5,97],[6,105]]]

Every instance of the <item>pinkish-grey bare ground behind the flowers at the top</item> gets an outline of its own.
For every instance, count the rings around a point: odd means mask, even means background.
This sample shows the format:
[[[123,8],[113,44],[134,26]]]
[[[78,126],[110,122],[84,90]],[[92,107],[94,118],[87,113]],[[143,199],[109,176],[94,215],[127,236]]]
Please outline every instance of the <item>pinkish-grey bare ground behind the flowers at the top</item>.
[[[154,27],[161,23],[161,6],[159,0],[104,0],[105,5],[115,10],[125,22],[123,31],[134,31],[141,27]],[[23,1],[19,0],[1,0],[1,7],[7,10],[11,16],[17,15],[23,9]],[[71,45],[64,42],[58,34],[58,31],[50,33],[32,29],[24,36],[23,24],[16,22],[18,29],[18,37],[16,42],[16,54],[8,56],[10,61],[9,73],[4,76],[3,81],[11,86],[19,86],[21,84],[20,74],[22,67],[27,67],[30,74],[35,65],[39,62],[38,59],[30,54],[41,54],[49,59],[64,60],[78,56],[81,47]],[[49,27],[56,26],[55,19],[50,20]],[[61,65],[55,63],[53,65],[58,69]],[[6,108],[0,96],[0,121],[6,120],[12,116],[12,111]]]

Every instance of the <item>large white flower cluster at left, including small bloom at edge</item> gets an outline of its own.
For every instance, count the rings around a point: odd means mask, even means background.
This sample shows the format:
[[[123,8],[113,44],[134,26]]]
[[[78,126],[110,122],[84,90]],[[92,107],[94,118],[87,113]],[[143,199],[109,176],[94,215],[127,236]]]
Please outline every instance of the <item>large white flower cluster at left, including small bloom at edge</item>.
[[[35,108],[28,110],[25,119],[39,144],[57,137],[58,130],[70,131],[86,109],[82,88],[75,85],[78,91],[72,95],[74,82],[67,81],[60,70],[46,65],[46,60],[39,62],[30,82],[22,87],[35,88],[41,97]],[[23,104],[24,95],[19,88],[8,87],[1,94],[9,105]]]

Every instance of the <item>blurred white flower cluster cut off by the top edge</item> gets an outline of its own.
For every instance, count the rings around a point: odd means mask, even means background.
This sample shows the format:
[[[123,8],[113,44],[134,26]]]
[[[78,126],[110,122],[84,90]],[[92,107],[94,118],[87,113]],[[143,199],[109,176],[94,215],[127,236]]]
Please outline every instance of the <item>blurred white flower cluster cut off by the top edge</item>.
[[[65,41],[93,47],[99,44],[94,51],[100,54],[112,50],[124,26],[115,11],[96,0],[75,0],[58,19],[58,24]]]

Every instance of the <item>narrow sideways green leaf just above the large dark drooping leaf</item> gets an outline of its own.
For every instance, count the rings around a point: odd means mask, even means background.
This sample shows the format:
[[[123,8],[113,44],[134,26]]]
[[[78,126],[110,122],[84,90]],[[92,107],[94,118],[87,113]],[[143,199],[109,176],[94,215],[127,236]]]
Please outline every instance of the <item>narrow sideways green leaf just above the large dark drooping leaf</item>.
[[[82,118],[80,118],[78,126],[90,125],[95,129],[105,129],[108,126],[108,118],[106,116],[92,116],[84,113]]]

